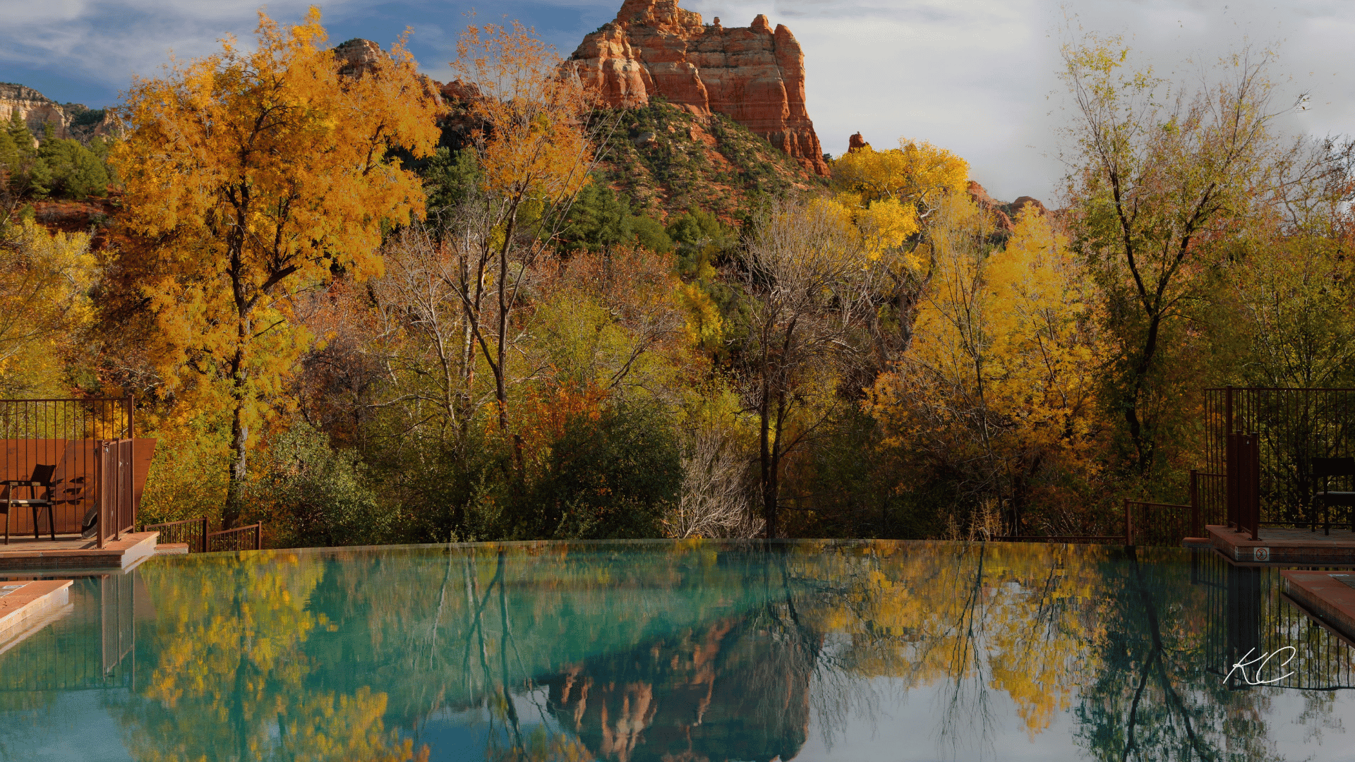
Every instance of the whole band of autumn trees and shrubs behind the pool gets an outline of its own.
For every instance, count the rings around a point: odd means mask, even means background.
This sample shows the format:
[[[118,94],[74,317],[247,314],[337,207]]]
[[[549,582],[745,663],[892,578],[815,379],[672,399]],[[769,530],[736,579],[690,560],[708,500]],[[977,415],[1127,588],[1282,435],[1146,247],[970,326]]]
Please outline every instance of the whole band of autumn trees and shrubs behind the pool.
[[[522,26],[443,99],[260,16],[111,145],[0,132],[0,384],[133,393],[142,518],[279,546],[1107,534],[1184,498],[1201,389],[1355,382],[1352,151],[1283,134],[1268,56],[1064,61],[1057,210],[900,138],[733,218],[610,187],[625,113]],[[98,235],[26,213],[91,188]]]

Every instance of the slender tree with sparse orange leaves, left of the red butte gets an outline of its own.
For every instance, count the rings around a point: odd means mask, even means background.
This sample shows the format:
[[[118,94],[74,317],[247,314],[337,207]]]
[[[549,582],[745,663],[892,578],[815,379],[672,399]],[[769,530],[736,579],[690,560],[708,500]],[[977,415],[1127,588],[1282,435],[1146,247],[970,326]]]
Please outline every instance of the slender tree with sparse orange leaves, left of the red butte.
[[[526,300],[528,270],[553,249],[588,183],[592,98],[554,49],[518,22],[467,27],[451,68],[470,100],[480,183],[442,240],[455,260],[451,285],[470,338],[493,378],[499,431],[509,437],[514,313]]]

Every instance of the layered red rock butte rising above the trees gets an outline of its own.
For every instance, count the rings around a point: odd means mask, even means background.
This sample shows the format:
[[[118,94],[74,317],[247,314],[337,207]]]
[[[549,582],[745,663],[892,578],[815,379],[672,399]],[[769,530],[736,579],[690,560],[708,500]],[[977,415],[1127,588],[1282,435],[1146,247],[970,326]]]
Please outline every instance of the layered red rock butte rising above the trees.
[[[608,106],[645,106],[661,95],[695,115],[724,114],[806,169],[828,174],[805,110],[805,54],[789,28],[772,30],[764,15],[725,28],[718,18],[703,24],[678,0],[626,0],[569,60]]]

